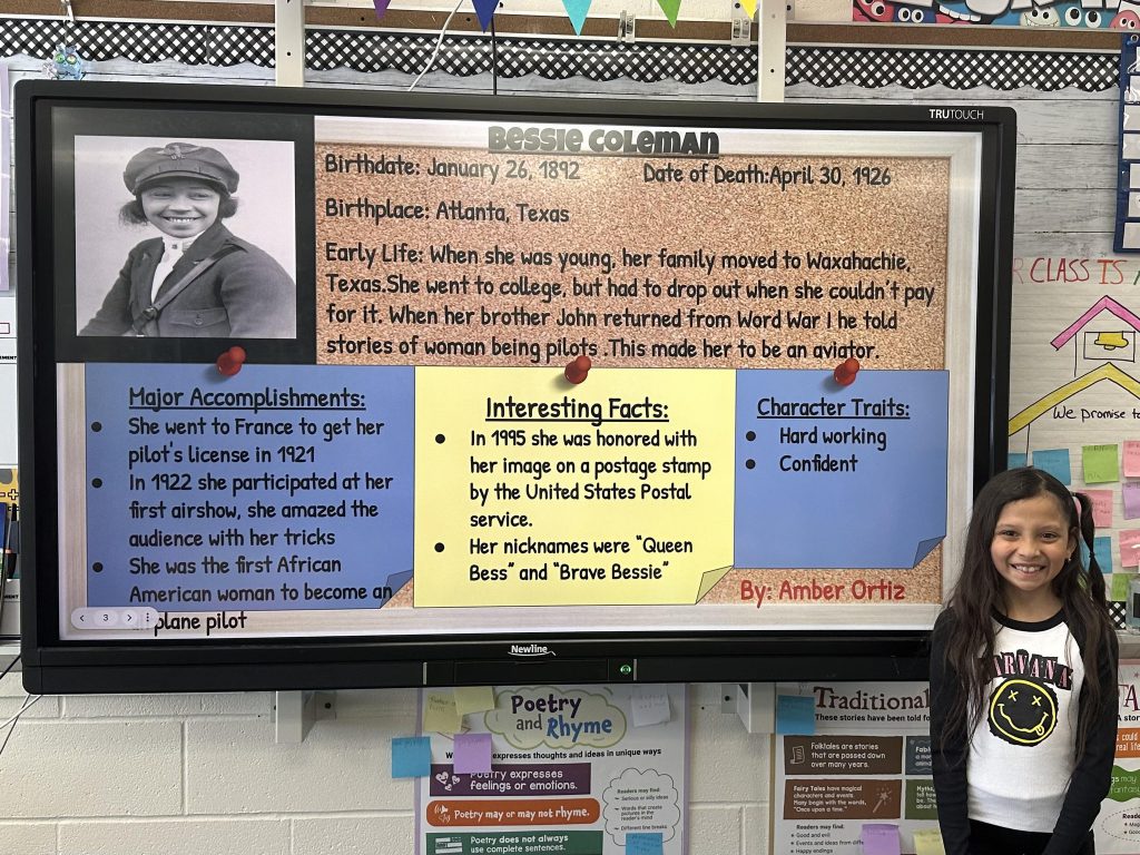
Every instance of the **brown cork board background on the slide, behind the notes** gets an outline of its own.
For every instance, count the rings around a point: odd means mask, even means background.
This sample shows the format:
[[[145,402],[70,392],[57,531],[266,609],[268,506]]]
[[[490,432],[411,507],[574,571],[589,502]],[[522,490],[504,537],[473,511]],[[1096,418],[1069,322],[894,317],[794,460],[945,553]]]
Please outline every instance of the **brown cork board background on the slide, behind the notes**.
[[[353,157],[364,153],[373,160],[384,156],[389,160],[404,157],[420,165],[415,176],[384,176],[332,173],[320,169],[328,154]],[[716,165],[725,170],[747,169],[757,164],[768,171],[779,166],[798,171],[812,166],[815,184],[712,184],[646,182],[644,165],[665,165],[666,162],[689,170],[699,165],[697,158],[641,157],[588,157],[576,158],[580,164],[579,180],[546,180],[538,176],[531,179],[507,179],[508,160],[526,160],[531,174],[542,158],[535,155],[511,157],[489,154],[470,148],[405,147],[334,145],[317,146],[317,353],[321,364],[348,365],[418,365],[418,366],[499,366],[535,367],[554,366],[561,369],[570,359],[581,352],[585,345],[595,368],[793,368],[832,370],[848,355],[813,356],[816,345],[842,344],[873,347],[871,356],[861,356],[864,368],[873,369],[940,369],[945,367],[945,312],[946,312],[946,264],[947,228],[950,209],[950,163],[940,157],[796,157],[796,156],[722,156]],[[497,181],[491,184],[486,177],[454,177],[425,174],[434,161],[465,164],[492,164],[498,166]],[[889,186],[856,185],[853,170],[872,162],[890,170]],[[839,166],[845,177],[841,187],[821,185],[824,166]],[[386,199],[400,204],[422,204],[429,218],[372,219],[359,217],[329,217],[325,201],[337,198],[357,202],[367,197],[374,204]],[[463,206],[484,207],[488,204],[505,209],[507,221],[467,221],[437,219],[441,202],[456,202]],[[516,203],[526,203],[532,209],[564,210],[569,222],[520,222]],[[392,246],[402,243],[420,250],[424,260],[420,263],[376,261],[368,268],[364,261],[328,260],[326,243],[340,246],[366,247]],[[474,251],[480,262],[483,253],[494,246],[511,252],[515,263],[432,263],[429,249],[449,243],[457,250]],[[662,267],[658,252],[665,249],[675,255],[691,255],[701,250],[706,258],[714,256],[711,274],[691,267]],[[650,253],[648,267],[625,267],[622,250]],[[731,255],[769,255],[775,250],[780,263],[775,269],[724,269],[720,259]],[[522,264],[521,253],[549,252],[554,264]],[[805,260],[799,269],[789,269],[783,253],[804,258],[808,252],[825,255],[845,255],[852,251],[861,255],[878,255],[880,252],[905,256],[906,269],[893,271],[869,270],[820,270],[808,269]],[[610,253],[612,270],[606,275],[601,267],[568,266],[563,271],[557,261],[559,252]],[[329,275],[344,278],[369,279],[385,284],[390,274],[402,274],[407,279],[421,283],[417,294],[399,293],[353,293],[339,292],[329,286]],[[466,294],[426,294],[425,280],[454,279],[467,276],[474,283],[477,276],[495,285],[494,294],[479,294],[472,285]],[[530,282],[561,283],[562,294],[544,302],[543,296],[504,295],[498,293],[499,284],[526,276]],[[611,296],[608,279],[629,283],[635,277],[643,283],[645,277],[663,286],[659,298],[646,298],[640,287],[637,296]],[[572,293],[575,277],[579,282],[594,282],[601,277],[601,295],[578,295]],[[682,285],[703,284],[708,295],[700,303],[691,296],[669,298],[667,288],[676,278]],[[740,296],[714,296],[712,286],[731,285],[740,282]],[[832,299],[831,286],[864,285],[885,286],[882,298]],[[746,288],[762,282],[767,286],[787,285],[785,299],[749,299]],[[823,286],[822,299],[796,299],[796,287],[804,282]],[[899,296],[895,299],[890,283],[899,285]],[[912,302],[903,306],[902,288],[923,285],[934,288],[929,306]],[[329,319],[327,306],[352,308],[351,323],[339,324]],[[361,309],[374,304],[380,309],[382,323],[364,323]],[[414,310],[433,310],[434,323],[393,325],[389,319],[389,307]],[[445,324],[443,307],[455,310],[472,310],[475,314],[465,325]],[[548,312],[544,324],[505,325],[481,323],[483,311],[512,312],[516,307],[528,312]],[[681,311],[679,327],[613,327],[605,326],[605,312],[661,314],[675,317]],[[561,311],[573,315],[576,310],[593,314],[596,326],[559,326],[555,320]],[[690,318],[693,310],[700,316],[715,316],[719,321]],[[837,329],[836,314],[856,316],[854,328]],[[741,328],[738,312],[779,316],[780,326],[768,321],[768,328]],[[890,328],[868,328],[864,312],[891,319]],[[816,316],[816,328],[791,328],[788,316],[804,314]],[[828,328],[829,314],[831,328]],[[723,325],[727,318],[727,325]],[[701,323],[701,326],[694,326]],[[717,326],[709,327],[709,323]],[[365,353],[335,355],[326,352],[326,341],[343,336],[350,340],[391,340],[397,342],[412,335],[420,336],[420,349],[415,357]],[[499,341],[514,340],[536,343],[540,349],[539,361],[527,352],[514,356],[492,356],[491,336]],[[624,337],[650,345],[652,342],[679,343],[687,340],[697,345],[693,357],[620,356],[612,351],[609,340]],[[565,342],[559,348],[563,337]],[[762,340],[781,345],[779,358],[760,357],[759,347],[755,358],[743,357],[735,347],[743,339],[759,345]],[[702,342],[732,343],[726,358],[708,357]],[[445,355],[426,355],[425,342],[448,342],[457,347],[448,348]],[[481,353],[471,347],[483,343]],[[576,343],[578,349],[568,349]],[[808,356],[788,357],[789,344],[804,344]],[[553,350],[548,351],[547,345]],[[593,345],[593,350],[589,349]],[[471,356],[465,352],[475,352]],[[628,351],[627,351],[628,352]],[[865,351],[864,351],[865,352]],[[711,568],[710,568],[711,569]],[[862,580],[874,584],[883,579],[905,581],[907,602],[940,601],[942,595],[942,547],[938,547],[913,570],[812,570],[805,568],[788,570],[731,570],[706,596],[702,603],[740,603],[740,583],[749,579],[756,585],[779,587],[783,581],[793,584],[816,580],[822,584],[842,585],[840,593],[830,602],[855,602],[852,583]],[[390,608],[410,606],[410,586],[400,592],[389,603]],[[888,598],[886,595],[874,600]],[[863,596],[860,602],[872,602]],[[744,603],[748,608],[755,608]]]

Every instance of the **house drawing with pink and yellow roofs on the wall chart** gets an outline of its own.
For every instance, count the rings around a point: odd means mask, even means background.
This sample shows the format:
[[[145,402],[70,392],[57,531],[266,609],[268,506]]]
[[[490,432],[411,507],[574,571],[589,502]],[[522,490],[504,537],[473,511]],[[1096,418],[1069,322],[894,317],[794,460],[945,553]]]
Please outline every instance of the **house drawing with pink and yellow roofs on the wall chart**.
[[[1101,315],[1109,315],[1119,323],[1092,321]],[[1086,329],[1089,326],[1099,328]],[[1140,331],[1140,317],[1110,296],[1102,296],[1081,315],[1075,321],[1057,334],[1050,342],[1054,350],[1061,350],[1074,343],[1073,380],[1040,398],[1009,420],[1009,435],[1025,430],[1053,407],[1096,383],[1108,381],[1115,383],[1133,397],[1140,399],[1140,381],[1133,377],[1125,366],[1137,361],[1137,332]]]

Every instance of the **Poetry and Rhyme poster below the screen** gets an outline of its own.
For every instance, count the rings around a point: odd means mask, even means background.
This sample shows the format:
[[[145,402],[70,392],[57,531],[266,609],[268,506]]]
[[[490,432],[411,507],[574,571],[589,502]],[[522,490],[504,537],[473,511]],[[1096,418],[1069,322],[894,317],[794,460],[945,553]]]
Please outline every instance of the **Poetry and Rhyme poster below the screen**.
[[[684,685],[497,686],[464,722],[431,734],[418,855],[690,850]]]

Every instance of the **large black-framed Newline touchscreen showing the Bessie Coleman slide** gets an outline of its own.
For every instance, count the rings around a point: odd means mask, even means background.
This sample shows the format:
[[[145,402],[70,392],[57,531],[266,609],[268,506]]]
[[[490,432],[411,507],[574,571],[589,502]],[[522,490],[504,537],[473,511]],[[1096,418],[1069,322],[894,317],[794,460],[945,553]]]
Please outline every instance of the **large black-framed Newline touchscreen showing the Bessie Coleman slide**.
[[[925,673],[1005,459],[1010,111],[17,116],[30,684]]]

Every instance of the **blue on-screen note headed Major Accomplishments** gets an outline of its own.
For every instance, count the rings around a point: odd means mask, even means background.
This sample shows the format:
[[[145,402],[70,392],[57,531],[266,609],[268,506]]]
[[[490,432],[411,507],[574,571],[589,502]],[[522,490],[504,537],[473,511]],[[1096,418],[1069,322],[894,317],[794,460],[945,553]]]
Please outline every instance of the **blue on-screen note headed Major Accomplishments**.
[[[412,368],[85,370],[90,605],[375,609],[410,578]]]

